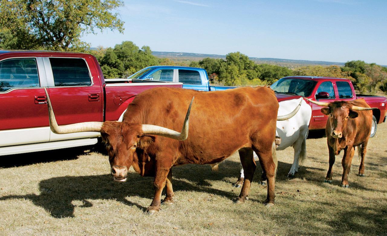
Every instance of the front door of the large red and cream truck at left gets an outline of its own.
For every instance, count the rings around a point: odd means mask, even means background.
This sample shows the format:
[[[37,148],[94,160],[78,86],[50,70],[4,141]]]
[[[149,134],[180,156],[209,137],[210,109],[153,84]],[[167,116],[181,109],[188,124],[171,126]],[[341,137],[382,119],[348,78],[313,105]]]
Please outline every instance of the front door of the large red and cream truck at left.
[[[0,61],[0,146],[49,140],[45,86],[41,58]]]

